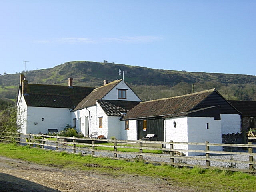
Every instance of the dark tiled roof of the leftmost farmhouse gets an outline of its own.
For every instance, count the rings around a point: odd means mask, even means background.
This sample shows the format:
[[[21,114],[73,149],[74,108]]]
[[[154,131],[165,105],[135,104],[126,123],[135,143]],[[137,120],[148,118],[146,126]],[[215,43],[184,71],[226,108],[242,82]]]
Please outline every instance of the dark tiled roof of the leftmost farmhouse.
[[[79,86],[61,86],[61,85],[42,85],[42,84],[28,84],[26,96],[26,103],[30,106],[47,106],[74,108],[83,98],[88,96],[94,88],[79,87]],[[50,97],[52,96],[52,97]],[[66,103],[52,103],[52,98],[59,96],[59,101]],[[62,96],[62,98],[61,98]],[[36,102],[38,98],[38,102]],[[51,106],[52,104],[52,106]],[[72,106],[72,107],[71,107]]]

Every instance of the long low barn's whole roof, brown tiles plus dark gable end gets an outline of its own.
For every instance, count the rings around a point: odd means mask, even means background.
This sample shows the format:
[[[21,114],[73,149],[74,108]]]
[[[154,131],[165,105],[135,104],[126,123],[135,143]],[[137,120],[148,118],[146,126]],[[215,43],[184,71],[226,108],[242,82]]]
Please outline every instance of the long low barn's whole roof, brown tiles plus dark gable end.
[[[164,117],[174,114],[182,116],[189,111],[218,105],[220,106],[220,113],[240,114],[216,89],[210,89],[183,96],[141,102],[130,110],[123,119]]]

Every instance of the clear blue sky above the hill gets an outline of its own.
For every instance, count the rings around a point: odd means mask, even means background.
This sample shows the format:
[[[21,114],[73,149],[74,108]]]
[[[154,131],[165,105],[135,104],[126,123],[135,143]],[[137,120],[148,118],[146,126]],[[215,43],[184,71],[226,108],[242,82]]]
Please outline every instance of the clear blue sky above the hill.
[[[256,0],[0,0],[0,74],[68,61],[256,74]]]

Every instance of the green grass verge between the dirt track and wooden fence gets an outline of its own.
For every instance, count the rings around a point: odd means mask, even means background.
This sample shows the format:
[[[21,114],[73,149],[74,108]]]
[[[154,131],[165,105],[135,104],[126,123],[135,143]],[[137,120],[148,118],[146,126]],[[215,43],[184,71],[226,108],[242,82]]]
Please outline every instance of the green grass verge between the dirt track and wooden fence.
[[[54,152],[29,146],[0,143],[0,156],[21,159],[38,164],[95,170],[112,175],[136,174],[165,178],[172,184],[189,186],[196,191],[208,192],[252,192],[256,189],[256,176],[219,169],[175,168],[162,164],[155,166],[143,161],[128,162],[109,158],[94,158],[81,154]]]

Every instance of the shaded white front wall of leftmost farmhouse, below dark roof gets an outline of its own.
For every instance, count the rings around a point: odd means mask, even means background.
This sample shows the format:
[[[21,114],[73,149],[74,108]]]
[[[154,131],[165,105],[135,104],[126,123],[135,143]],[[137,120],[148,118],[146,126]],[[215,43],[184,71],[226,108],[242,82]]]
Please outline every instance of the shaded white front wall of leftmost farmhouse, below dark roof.
[[[42,121],[42,118],[44,120]],[[71,122],[70,109],[28,107],[26,133],[48,133],[48,129],[64,130]]]

